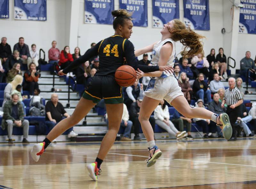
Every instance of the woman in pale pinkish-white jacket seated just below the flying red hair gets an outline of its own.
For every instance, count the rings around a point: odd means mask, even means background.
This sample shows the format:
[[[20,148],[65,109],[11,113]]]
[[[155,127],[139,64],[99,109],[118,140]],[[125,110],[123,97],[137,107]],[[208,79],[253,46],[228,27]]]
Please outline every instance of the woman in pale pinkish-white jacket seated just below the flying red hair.
[[[191,64],[194,64],[199,73],[203,73],[205,77],[208,77],[209,62],[202,53],[194,56],[191,60]]]

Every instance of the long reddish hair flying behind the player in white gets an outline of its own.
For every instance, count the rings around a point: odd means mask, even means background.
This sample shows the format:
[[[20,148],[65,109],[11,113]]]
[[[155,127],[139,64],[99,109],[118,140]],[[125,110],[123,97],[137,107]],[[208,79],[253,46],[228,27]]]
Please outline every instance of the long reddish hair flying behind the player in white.
[[[204,54],[203,42],[201,39],[204,36],[197,34],[190,28],[186,28],[185,24],[180,20],[174,20],[173,30],[170,31],[174,41],[180,41],[185,47],[181,53],[184,54],[184,58],[189,58],[199,53]],[[188,50],[189,48],[189,50]]]

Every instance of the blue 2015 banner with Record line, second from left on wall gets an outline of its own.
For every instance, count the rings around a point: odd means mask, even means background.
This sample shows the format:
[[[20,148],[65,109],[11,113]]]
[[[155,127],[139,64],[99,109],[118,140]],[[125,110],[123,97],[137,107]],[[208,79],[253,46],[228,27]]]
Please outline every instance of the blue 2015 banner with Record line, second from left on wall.
[[[47,20],[46,0],[14,0],[14,19]]]

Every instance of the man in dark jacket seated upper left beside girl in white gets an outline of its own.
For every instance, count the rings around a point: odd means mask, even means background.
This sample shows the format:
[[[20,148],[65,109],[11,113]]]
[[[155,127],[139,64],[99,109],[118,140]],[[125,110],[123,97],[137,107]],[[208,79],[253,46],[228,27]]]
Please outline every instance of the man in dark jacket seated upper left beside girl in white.
[[[20,58],[21,58],[23,64],[27,64],[28,69],[29,69],[29,64],[32,62],[32,59],[30,57],[28,45],[24,43],[24,38],[23,37],[20,37],[19,38],[19,43],[16,43],[14,45],[13,51],[15,51],[15,50],[20,52]]]

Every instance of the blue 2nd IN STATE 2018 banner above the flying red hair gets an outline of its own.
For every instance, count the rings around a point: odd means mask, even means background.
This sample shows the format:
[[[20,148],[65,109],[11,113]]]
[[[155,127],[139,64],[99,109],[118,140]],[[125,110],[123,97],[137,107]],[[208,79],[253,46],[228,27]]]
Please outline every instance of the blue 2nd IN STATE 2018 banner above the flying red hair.
[[[196,30],[210,30],[209,0],[183,0],[184,23]]]

